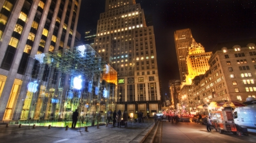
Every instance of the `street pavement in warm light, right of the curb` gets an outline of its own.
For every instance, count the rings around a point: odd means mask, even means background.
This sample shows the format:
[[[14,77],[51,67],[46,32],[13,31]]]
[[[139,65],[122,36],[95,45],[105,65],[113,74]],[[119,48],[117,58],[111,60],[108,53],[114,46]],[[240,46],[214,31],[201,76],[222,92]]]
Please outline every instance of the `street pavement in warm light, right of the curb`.
[[[206,125],[180,122],[172,124],[163,122],[162,142],[256,142],[256,136],[236,136],[233,133],[220,134],[212,127],[212,132],[207,131]]]

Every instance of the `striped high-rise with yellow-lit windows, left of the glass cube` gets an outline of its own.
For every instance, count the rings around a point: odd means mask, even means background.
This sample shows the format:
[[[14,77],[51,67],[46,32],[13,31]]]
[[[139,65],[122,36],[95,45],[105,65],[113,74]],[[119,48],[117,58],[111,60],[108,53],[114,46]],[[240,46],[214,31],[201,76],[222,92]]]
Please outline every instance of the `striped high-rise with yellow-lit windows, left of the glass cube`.
[[[76,28],[80,3],[0,1],[0,120],[20,118],[20,103],[24,102],[20,96],[24,95],[19,93],[27,80],[24,73],[28,57],[68,49],[79,40]]]

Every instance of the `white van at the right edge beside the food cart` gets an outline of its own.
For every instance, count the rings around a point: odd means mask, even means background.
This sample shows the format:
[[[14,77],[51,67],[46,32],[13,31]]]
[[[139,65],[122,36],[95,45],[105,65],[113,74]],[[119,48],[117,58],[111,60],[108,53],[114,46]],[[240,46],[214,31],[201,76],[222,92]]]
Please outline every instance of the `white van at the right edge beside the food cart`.
[[[244,103],[247,103],[248,105],[244,107],[236,107],[233,111],[234,123],[242,127],[247,127],[248,129],[256,129],[256,104],[250,104],[249,99],[246,99],[246,102]]]

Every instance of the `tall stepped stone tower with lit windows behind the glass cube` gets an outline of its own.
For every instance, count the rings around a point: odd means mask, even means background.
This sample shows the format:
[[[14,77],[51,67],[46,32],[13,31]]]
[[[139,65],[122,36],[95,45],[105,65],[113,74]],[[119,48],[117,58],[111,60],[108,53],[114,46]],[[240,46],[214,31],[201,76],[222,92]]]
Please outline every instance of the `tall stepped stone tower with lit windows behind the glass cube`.
[[[118,72],[118,110],[150,115],[160,110],[154,28],[135,0],[106,0],[100,14],[96,50]]]

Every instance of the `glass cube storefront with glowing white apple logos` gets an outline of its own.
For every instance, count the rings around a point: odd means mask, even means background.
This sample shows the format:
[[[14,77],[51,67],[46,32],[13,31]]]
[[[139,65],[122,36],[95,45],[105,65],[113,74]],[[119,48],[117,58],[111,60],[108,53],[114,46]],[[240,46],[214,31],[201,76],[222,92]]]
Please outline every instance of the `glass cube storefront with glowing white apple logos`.
[[[34,67],[20,116],[23,124],[29,120],[64,127],[78,109],[85,112],[85,126],[102,122],[97,117],[115,108],[117,72],[89,45],[30,56],[30,60]]]

